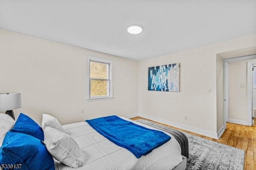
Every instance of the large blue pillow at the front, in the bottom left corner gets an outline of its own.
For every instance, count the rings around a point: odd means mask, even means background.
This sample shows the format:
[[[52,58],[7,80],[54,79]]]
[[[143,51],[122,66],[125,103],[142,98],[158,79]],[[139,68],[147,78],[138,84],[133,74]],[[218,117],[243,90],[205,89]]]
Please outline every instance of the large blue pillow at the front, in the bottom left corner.
[[[7,132],[0,149],[1,165],[21,164],[21,170],[54,170],[54,161],[42,142],[24,133]],[[17,167],[16,167],[17,168]]]

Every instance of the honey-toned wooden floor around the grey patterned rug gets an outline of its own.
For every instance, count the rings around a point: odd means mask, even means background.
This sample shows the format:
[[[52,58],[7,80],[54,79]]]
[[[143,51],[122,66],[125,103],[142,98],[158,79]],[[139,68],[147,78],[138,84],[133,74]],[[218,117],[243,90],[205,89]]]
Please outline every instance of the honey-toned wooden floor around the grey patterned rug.
[[[145,119],[142,117],[134,117],[132,120],[137,119]],[[151,121],[149,119],[145,119]],[[152,121],[154,123],[158,123],[156,121]],[[256,123],[256,121],[255,121]],[[209,138],[207,136],[203,136],[200,134],[196,134],[193,132],[189,132],[187,130],[182,130],[179,128],[171,127],[169,125],[165,125],[162,123],[158,123],[160,125],[164,125],[166,127],[174,128],[186,133],[190,133],[196,136],[200,136],[205,139],[209,139],[215,142],[220,142],[222,144],[226,144],[238,149],[245,150],[245,160],[244,160],[244,170],[256,170],[256,125],[249,127],[245,125],[238,125],[234,123],[227,123],[227,129],[224,131],[220,139]]]

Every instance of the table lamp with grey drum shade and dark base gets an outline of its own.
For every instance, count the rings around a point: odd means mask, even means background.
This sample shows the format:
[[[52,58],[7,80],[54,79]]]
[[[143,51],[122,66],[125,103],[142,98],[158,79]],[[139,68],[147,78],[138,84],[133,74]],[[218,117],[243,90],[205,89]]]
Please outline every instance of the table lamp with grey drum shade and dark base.
[[[0,111],[6,111],[14,119],[12,110],[18,108],[21,108],[21,93],[0,93]]]

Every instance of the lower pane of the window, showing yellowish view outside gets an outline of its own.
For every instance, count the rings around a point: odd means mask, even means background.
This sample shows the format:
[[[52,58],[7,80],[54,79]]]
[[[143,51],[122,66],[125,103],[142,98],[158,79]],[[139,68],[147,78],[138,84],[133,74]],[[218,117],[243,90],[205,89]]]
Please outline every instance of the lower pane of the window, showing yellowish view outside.
[[[109,81],[90,80],[90,82],[91,82],[90,94],[92,97],[93,96],[106,96],[108,94]]]

